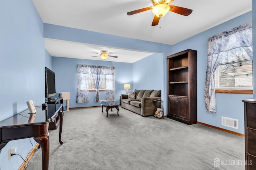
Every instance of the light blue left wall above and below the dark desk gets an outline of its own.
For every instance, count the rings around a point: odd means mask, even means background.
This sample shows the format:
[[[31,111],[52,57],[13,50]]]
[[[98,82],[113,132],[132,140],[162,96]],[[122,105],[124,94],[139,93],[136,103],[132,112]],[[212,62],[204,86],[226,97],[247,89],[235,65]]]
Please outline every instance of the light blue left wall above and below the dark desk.
[[[43,22],[31,0],[1,0],[0,21],[2,121],[27,109],[28,100],[44,102],[44,39]],[[10,147],[25,159],[34,145],[34,139],[10,141],[0,152],[0,169],[17,170],[23,162],[17,155],[8,160]]]

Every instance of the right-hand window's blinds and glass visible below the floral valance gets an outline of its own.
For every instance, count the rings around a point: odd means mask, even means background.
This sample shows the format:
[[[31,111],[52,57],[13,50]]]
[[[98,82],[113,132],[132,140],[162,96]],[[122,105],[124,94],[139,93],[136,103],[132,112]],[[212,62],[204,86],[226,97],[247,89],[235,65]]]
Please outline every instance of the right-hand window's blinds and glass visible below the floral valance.
[[[252,90],[252,59],[242,47],[226,51],[214,73],[214,88]]]

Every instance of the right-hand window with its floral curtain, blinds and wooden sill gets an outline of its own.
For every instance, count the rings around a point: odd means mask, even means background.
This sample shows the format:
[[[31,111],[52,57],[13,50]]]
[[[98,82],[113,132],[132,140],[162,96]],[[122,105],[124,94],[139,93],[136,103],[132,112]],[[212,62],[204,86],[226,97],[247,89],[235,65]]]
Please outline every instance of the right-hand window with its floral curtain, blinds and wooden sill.
[[[207,113],[216,113],[216,92],[252,94],[252,21],[208,38]]]

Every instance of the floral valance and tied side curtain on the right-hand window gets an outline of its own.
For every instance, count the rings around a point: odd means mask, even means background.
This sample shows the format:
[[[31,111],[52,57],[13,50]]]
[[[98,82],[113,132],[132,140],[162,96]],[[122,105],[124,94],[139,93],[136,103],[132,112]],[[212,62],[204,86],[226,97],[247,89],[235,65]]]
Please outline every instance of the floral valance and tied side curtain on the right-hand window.
[[[204,88],[204,102],[207,113],[216,113],[213,74],[220,64],[224,52],[238,47],[243,47],[252,59],[252,21],[208,39],[208,64]]]

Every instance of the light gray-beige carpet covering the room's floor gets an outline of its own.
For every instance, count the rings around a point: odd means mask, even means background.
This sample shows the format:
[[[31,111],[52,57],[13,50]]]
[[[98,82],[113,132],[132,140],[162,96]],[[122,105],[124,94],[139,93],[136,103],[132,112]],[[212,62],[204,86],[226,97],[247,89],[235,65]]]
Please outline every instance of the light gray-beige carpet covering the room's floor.
[[[64,112],[63,145],[50,131],[49,170],[244,170],[244,138],[203,125],[101,107]],[[27,170],[42,168],[37,149]],[[214,158],[220,167],[214,167]],[[226,162],[226,163],[225,163]],[[225,164],[224,164],[225,163]]]

